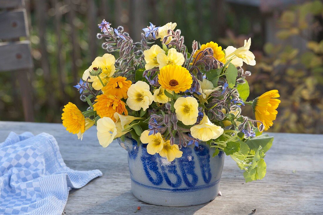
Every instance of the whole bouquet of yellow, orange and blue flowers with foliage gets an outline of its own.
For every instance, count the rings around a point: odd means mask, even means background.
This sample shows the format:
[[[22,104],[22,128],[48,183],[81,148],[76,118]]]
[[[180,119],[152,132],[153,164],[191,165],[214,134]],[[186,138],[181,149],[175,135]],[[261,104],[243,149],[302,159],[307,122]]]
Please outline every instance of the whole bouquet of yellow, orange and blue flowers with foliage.
[[[245,170],[246,182],[262,179],[264,161],[273,137],[262,134],[273,125],[280,100],[272,90],[247,102],[249,71],[243,63],[255,65],[249,50],[251,38],[243,47],[222,49],[217,43],[199,45],[192,52],[176,23],[143,28],[141,41],[134,42],[122,26],[99,24],[107,52],[94,59],[75,86],[80,99],[89,104],[81,112],[68,102],[62,113],[63,125],[82,139],[84,132],[97,126],[100,145],[131,137],[147,145],[151,155],[158,153],[169,162],[182,156],[182,147],[198,147],[204,142],[232,157]],[[243,116],[241,105],[251,105],[255,119]]]

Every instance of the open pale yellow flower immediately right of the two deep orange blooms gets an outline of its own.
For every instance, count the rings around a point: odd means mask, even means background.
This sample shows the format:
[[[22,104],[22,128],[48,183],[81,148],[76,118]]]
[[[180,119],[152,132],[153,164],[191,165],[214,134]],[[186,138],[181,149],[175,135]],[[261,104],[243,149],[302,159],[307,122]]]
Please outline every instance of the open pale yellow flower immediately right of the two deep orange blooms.
[[[141,108],[145,111],[154,99],[149,85],[144,81],[137,81],[135,84],[132,84],[127,94],[128,99],[126,103],[134,111],[139,111]]]

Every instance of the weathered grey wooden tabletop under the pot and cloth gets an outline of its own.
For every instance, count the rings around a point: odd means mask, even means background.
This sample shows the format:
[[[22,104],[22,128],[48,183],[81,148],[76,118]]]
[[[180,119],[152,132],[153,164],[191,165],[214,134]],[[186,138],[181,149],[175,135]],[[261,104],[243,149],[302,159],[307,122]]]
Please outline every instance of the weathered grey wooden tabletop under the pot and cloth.
[[[68,167],[99,169],[103,176],[69,193],[64,209],[74,214],[322,214],[323,135],[268,133],[275,137],[266,154],[267,174],[263,180],[245,183],[242,171],[228,156],[220,182],[221,197],[190,207],[161,207],[136,199],[131,193],[127,152],[116,141],[102,148],[96,128],[83,141],[61,124],[0,122],[0,142],[11,132],[52,134]],[[158,198],[158,197],[156,197]]]

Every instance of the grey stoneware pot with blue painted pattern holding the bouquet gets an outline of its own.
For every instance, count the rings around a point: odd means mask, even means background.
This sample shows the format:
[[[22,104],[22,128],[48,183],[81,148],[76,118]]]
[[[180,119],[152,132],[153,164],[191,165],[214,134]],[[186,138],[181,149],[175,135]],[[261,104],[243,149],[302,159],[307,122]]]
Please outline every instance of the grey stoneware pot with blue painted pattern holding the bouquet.
[[[183,156],[169,162],[159,154],[147,153],[146,145],[126,137],[118,138],[128,151],[133,195],[141,201],[161,206],[191,206],[212,201],[219,193],[224,155],[213,157],[205,143],[183,147]]]

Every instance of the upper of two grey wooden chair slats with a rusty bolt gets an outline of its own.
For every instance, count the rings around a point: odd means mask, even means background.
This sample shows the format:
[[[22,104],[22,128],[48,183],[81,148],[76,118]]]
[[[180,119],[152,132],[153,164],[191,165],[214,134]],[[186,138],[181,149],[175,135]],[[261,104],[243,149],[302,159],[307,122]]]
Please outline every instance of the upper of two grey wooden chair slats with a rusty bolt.
[[[28,37],[26,17],[25,9],[0,13],[0,39],[9,40]]]

